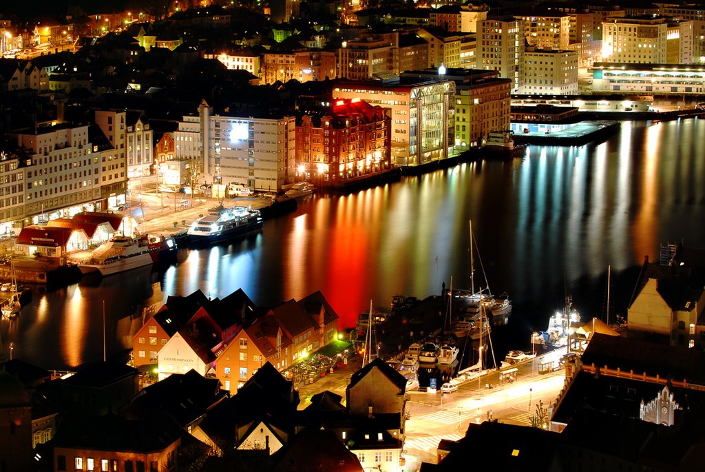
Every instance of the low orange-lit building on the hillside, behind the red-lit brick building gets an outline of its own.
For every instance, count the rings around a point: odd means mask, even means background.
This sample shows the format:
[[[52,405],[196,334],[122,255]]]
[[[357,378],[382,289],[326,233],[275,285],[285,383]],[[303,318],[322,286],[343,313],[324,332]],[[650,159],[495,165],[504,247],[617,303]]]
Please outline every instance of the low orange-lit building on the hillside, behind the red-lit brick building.
[[[262,83],[286,83],[288,80],[308,82],[337,77],[337,57],[332,51],[302,49],[262,54]]]

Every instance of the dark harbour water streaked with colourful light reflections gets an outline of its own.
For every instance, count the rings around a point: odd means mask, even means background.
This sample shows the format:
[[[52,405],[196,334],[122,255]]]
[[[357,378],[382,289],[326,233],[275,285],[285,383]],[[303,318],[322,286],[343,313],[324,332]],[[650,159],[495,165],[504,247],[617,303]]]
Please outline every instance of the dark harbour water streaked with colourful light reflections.
[[[47,368],[128,348],[142,314],[167,295],[201,289],[223,297],[242,288],[258,305],[320,290],[352,326],[369,300],[423,298],[453,277],[470,286],[472,219],[481,260],[476,289],[507,291],[514,315],[505,334],[526,341],[572,294],[584,317],[601,316],[611,265],[615,305],[625,314],[645,255],[658,244],[702,246],[705,121],[623,123],[606,143],[529,147],[514,162],[476,162],[353,195],[317,195],[261,234],[183,253],[178,266],[84,281],[35,300],[1,325],[3,346]],[[482,264],[480,263],[482,262]],[[145,311],[147,310],[147,311]],[[515,346],[521,349],[522,346]]]

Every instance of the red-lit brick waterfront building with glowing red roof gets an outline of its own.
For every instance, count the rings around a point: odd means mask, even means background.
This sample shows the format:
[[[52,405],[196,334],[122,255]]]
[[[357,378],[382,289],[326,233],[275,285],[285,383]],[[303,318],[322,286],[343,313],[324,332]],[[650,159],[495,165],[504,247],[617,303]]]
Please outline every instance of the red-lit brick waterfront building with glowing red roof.
[[[297,180],[335,186],[391,169],[391,115],[360,99],[341,99],[296,126]]]

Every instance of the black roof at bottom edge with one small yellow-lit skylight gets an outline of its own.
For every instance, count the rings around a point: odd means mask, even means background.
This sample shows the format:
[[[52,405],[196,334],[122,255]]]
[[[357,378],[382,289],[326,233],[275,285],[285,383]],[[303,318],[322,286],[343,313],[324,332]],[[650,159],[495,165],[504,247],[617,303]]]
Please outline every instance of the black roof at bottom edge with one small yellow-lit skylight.
[[[556,470],[558,433],[505,423],[470,423],[465,437],[434,471],[473,470],[541,472]],[[426,470],[425,468],[423,470]]]

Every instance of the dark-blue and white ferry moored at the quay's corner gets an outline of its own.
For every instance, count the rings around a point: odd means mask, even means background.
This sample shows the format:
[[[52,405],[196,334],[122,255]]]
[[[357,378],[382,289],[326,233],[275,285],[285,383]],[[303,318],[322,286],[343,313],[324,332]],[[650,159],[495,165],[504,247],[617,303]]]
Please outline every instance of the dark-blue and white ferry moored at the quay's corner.
[[[251,207],[211,208],[188,229],[190,244],[212,244],[262,229],[262,215]]]

